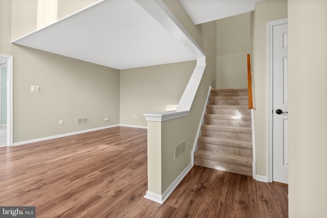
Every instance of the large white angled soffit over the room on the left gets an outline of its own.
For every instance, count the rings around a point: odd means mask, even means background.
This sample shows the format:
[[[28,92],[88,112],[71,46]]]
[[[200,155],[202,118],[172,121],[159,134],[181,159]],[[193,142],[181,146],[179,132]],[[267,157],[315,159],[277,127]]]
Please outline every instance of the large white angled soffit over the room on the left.
[[[105,0],[13,41],[116,69],[196,60],[134,0]]]

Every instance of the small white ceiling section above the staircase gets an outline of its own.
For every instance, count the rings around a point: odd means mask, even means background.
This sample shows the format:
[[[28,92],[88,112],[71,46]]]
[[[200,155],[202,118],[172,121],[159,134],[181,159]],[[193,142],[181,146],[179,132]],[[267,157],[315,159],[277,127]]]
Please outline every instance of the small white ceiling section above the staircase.
[[[253,11],[261,0],[179,0],[195,25]]]

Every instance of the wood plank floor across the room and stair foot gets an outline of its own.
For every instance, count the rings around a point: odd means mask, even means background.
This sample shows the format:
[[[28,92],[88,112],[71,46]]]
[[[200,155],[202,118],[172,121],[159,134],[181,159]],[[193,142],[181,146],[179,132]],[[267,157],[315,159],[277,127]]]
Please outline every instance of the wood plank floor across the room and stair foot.
[[[36,206],[36,217],[288,217],[287,186],[200,166],[164,205],[146,191],[146,129],[0,148],[0,206]]]

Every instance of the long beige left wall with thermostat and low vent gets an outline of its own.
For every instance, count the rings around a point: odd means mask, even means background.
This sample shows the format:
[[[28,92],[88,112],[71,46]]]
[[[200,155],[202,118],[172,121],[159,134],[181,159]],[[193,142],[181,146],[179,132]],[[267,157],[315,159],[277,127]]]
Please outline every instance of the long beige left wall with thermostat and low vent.
[[[10,11],[8,2],[1,10]],[[5,15],[0,53],[14,57],[14,142],[119,124],[119,70],[11,44],[11,13]],[[78,117],[89,123],[76,125]]]

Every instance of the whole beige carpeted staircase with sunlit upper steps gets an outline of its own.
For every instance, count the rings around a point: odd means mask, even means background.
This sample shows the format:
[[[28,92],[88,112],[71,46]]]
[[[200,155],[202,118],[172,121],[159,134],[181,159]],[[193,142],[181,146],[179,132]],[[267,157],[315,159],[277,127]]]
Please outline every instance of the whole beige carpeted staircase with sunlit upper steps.
[[[252,176],[247,89],[212,89],[194,164]]]

